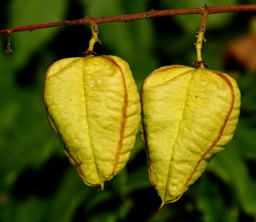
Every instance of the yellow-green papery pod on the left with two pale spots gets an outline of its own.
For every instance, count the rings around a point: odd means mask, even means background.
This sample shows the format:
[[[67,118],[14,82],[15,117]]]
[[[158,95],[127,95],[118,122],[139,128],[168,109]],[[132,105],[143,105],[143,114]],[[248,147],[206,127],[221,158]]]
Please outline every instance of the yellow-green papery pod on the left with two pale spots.
[[[44,104],[65,152],[90,186],[125,166],[140,122],[129,65],[116,56],[62,59],[47,70]]]

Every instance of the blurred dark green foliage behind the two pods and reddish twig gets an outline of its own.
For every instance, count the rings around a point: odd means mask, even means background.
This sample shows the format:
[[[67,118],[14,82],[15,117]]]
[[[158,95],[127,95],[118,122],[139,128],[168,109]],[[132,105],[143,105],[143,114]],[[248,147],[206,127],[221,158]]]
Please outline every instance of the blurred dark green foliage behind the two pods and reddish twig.
[[[0,28],[61,20],[123,15],[150,9],[201,7],[203,4],[253,4],[254,0],[118,1],[10,0],[1,3]],[[233,140],[212,159],[205,173],[175,203],[161,203],[148,180],[139,137],[126,167],[103,192],[79,178],[47,121],[42,87],[55,61],[81,56],[89,26],[55,27],[0,36],[0,222],[42,221],[256,221],[256,73],[225,63],[223,50],[247,32],[252,12],[213,14],[207,21],[203,59],[213,70],[236,78],[242,94]],[[98,55],[116,55],[130,64],[140,88],[155,69],[190,66],[200,15],[100,24]]]

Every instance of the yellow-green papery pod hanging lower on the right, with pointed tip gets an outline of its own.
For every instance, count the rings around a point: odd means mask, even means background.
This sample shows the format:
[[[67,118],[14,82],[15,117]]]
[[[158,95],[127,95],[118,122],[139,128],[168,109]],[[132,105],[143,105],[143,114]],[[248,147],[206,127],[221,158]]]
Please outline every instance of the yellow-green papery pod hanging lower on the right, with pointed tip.
[[[161,209],[177,201],[232,139],[240,91],[227,74],[172,65],[145,79],[140,100],[140,136]]]

